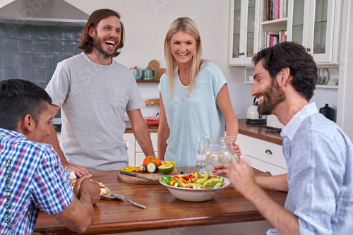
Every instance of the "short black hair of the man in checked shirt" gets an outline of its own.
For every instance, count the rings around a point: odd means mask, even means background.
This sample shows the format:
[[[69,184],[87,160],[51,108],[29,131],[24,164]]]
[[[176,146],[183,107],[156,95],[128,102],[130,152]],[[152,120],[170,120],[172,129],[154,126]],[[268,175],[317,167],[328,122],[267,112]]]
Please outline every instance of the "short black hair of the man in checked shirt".
[[[0,128],[16,131],[18,122],[27,114],[38,123],[45,102],[52,104],[52,98],[35,83],[20,79],[1,81]]]

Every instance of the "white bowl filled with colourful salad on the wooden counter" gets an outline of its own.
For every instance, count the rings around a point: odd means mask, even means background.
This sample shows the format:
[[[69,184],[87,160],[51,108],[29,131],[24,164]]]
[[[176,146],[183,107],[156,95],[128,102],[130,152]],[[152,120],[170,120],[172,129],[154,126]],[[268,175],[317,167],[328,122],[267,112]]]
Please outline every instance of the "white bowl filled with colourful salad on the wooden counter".
[[[203,202],[215,198],[230,181],[223,176],[209,175],[207,171],[204,175],[193,171],[191,174],[162,175],[160,183],[179,200]]]

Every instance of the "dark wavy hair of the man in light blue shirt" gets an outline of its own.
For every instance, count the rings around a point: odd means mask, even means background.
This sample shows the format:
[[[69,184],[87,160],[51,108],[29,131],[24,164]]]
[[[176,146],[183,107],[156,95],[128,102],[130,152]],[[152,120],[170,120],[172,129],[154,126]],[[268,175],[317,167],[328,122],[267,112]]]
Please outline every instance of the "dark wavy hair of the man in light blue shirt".
[[[261,60],[263,68],[272,78],[275,78],[282,68],[289,68],[294,89],[303,94],[308,102],[313,97],[313,90],[318,81],[318,69],[313,56],[308,54],[303,46],[297,42],[275,44],[253,56],[255,65]]]

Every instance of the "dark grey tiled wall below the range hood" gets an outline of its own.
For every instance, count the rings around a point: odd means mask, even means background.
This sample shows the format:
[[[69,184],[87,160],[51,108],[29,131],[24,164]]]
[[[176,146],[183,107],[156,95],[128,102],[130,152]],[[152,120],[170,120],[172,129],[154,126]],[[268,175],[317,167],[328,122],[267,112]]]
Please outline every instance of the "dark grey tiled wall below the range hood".
[[[56,64],[80,53],[82,29],[0,23],[0,80],[20,78],[45,88]]]

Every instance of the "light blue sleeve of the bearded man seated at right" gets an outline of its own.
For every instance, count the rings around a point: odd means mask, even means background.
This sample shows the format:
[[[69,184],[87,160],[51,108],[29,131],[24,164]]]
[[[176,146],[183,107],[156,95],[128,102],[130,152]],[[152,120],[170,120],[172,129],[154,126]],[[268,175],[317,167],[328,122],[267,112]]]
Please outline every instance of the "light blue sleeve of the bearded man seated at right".
[[[335,135],[335,133],[333,133]],[[296,135],[289,161],[289,197],[298,217],[301,234],[332,234],[331,219],[335,216],[336,198],[342,185],[345,161],[340,143],[335,138],[304,131]]]

